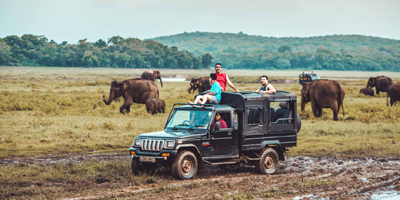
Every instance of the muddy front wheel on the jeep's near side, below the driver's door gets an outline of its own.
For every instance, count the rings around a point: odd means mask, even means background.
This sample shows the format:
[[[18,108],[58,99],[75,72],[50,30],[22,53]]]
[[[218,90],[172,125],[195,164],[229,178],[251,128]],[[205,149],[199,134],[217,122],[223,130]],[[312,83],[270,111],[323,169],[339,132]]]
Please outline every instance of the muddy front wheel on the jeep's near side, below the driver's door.
[[[197,173],[197,167],[197,159],[192,152],[179,152],[171,166],[172,176],[179,180],[192,178]]]

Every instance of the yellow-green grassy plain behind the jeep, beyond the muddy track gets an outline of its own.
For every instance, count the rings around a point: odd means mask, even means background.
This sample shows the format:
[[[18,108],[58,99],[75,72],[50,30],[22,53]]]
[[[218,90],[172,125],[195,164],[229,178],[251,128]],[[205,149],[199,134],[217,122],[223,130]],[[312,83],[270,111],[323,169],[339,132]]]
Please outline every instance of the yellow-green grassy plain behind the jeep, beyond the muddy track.
[[[145,105],[138,104],[131,107],[131,113],[121,115],[122,98],[109,106],[102,102],[102,94],[108,97],[112,79],[131,79],[139,76],[140,70],[0,67],[0,72],[0,157],[126,151],[136,135],[162,130],[168,117],[168,113],[147,114]],[[198,76],[210,73],[195,70],[161,72],[187,76],[194,76],[194,72]],[[258,84],[253,83],[257,83],[260,73],[271,74],[272,84],[276,79],[297,80],[297,76],[292,76],[293,72],[244,73],[237,70],[228,73],[239,90],[257,88]],[[324,109],[324,115],[314,119],[308,104],[306,112],[300,114],[302,129],[298,147],[293,147],[288,155],[399,156],[400,143],[396,141],[400,141],[400,107],[386,107],[385,93],[375,97],[359,94],[368,76],[376,74],[385,73],[330,72],[321,75],[324,78],[341,77],[331,79],[338,79],[345,88],[346,116],[340,115],[339,121],[332,121],[331,110]],[[400,81],[400,73],[385,75]],[[159,82],[157,84],[168,111],[174,102],[187,102],[194,97],[187,93],[187,83],[165,82],[164,88]],[[300,96],[301,86],[297,82],[274,86]],[[300,98],[298,107],[300,113]]]

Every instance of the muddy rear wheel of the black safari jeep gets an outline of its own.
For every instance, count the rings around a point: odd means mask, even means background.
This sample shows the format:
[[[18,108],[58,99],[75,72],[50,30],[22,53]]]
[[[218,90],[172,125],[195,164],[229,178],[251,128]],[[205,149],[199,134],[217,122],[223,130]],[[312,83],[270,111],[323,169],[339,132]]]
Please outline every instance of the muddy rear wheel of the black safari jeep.
[[[279,156],[274,149],[265,148],[260,152],[261,159],[255,164],[258,173],[272,174],[279,168]]]

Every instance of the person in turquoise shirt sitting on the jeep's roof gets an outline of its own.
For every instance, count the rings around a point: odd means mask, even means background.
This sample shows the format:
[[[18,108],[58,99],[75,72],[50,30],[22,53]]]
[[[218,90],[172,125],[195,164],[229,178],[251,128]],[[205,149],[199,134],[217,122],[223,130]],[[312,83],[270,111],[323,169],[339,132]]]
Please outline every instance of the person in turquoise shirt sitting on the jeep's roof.
[[[211,78],[211,91],[210,93],[207,93],[206,95],[198,95],[196,97],[196,100],[194,100],[194,103],[199,103],[199,104],[205,104],[205,103],[211,103],[211,104],[219,104],[221,101],[221,93],[222,89],[220,84],[217,82],[217,74],[210,74]],[[193,104],[193,102],[188,101],[187,103]],[[192,105],[195,107],[194,105]],[[204,106],[201,106],[204,107]]]

